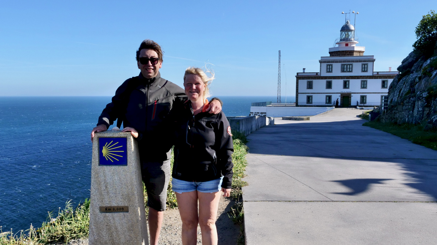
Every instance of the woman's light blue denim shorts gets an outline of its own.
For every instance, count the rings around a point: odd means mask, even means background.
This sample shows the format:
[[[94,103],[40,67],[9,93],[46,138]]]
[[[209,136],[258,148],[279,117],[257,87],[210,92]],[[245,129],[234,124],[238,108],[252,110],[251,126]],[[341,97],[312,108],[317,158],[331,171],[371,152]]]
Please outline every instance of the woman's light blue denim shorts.
[[[203,193],[214,193],[222,190],[223,176],[210,181],[205,182],[194,182],[178,180],[173,178],[171,180],[172,190],[177,193],[190,192],[190,191],[200,191]]]

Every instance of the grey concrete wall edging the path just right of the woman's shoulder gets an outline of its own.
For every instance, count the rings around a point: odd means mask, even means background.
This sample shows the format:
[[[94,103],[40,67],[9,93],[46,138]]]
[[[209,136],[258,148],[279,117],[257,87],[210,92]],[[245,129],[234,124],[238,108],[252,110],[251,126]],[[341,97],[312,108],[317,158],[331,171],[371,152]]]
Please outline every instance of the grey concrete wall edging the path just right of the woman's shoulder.
[[[266,125],[274,125],[274,118],[267,116],[227,116],[232,130],[248,135]]]

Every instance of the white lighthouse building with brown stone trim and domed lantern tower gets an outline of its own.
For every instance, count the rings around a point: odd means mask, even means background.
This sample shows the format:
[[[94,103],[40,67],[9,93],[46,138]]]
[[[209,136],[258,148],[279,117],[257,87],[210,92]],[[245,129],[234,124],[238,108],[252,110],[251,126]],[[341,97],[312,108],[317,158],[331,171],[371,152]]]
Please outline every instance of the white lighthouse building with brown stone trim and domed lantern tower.
[[[319,60],[319,72],[298,72],[296,106],[379,106],[398,71],[374,71],[375,58],[356,46],[355,28],[349,20],[341,27],[336,47]]]

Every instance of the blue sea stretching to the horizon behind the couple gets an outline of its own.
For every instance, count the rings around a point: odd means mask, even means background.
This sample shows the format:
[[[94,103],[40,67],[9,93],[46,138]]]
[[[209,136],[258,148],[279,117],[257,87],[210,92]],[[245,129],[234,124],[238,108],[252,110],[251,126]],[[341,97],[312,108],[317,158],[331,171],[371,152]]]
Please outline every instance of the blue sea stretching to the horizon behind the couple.
[[[274,96],[218,96],[226,116],[248,116]],[[294,102],[294,98],[290,98]],[[0,225],[39,227],[68,200],[90,197],[90,131],[111,97],[0,97]]]

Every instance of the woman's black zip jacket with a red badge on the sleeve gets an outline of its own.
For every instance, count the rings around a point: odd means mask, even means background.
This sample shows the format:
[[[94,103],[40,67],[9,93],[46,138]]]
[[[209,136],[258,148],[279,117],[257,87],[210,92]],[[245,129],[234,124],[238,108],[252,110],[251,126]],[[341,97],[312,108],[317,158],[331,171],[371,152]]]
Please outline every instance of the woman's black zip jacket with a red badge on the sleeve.
[[[205,106],[206,109],[208,105]],[[209,181],[223,176],[222,187],[232,186],[231,128],[225,113],[204,110],[194,116],[191,101],[170,113],[174,136],[172,176],[178,180]]]

